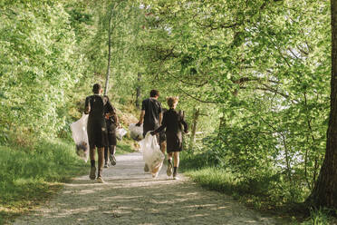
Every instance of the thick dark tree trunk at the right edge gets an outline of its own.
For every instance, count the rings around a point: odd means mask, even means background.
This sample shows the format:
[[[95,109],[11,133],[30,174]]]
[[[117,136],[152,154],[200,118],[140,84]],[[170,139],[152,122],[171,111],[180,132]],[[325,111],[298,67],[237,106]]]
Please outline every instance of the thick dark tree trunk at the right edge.
[[[337,209],[337,0],[331,0],[332,79],[330,118],[323,165],[307,202],[316,207]]]

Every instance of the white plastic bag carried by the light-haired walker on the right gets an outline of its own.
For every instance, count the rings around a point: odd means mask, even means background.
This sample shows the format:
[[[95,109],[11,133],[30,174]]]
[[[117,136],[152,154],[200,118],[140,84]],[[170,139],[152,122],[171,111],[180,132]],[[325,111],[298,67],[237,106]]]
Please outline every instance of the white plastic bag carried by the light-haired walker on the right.
[[[157,137],[148,132],[145,139],[140,142],[140,151],[143,152],[143,159],[152,177],[157,177],[165,159],[165,155],[160,151]]]

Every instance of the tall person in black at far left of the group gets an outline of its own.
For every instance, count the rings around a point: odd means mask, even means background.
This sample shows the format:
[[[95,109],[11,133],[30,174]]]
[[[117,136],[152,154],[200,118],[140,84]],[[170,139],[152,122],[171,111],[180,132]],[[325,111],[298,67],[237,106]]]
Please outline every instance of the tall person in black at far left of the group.
[[[93,95],[85,99],[84,106],[84,113],[89,114],[87,126],[91,160],[89,177],[91,180],[96,178],[95,149],[97,148],[99,158],[97,181],[103,182],[101,171],[104,161],[104,146],[108,144],[105,116],[110,116],[113,113],[113,109],[111,103],[105,102],[101,97],[101,84],[95,83],[92,87],[92,92]]]

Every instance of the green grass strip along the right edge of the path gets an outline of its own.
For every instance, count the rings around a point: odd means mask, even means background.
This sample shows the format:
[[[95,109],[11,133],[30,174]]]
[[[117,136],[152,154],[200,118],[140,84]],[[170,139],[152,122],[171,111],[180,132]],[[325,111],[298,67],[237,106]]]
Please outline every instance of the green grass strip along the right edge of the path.
[[[202,167],[200,161],[193,161],[193,157],[182,156],[180,166],[184,174],[196,181],[202,187],[224,192],[234,197],[234,199],[246,204],[249,208],[264,211],[267,214],[273,214],[286,224],[303,224],[303,225],[327,225],[337,224],[337,220],[330,216],[328,210],[311,210],[310,216],[306,210],[296,209],[294,205],[280,198],[279,191],[271,189],[259,182],[247,184],[241,181],[235,174],[226,169],[215,166]],[[285,184],[279,183],[280,188],[284,190]],[[265,192],[263,192],[265,190]],[[301,205],[301,207],[305,207]]]

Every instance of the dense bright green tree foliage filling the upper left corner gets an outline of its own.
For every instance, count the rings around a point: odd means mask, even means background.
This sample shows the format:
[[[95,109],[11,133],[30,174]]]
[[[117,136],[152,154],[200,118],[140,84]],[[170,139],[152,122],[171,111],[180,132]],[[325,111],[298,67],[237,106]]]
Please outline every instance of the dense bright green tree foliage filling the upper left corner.
[[[64,107],[64,92],[82,75],[69,15],[63,5],[43,2],[9,5],[3,12],[0,86],[6,98],[1,99],[1,124],[53,136],[63,128],[57,108]]]

